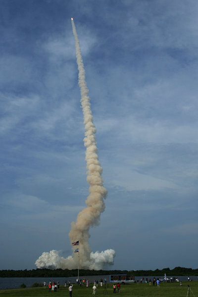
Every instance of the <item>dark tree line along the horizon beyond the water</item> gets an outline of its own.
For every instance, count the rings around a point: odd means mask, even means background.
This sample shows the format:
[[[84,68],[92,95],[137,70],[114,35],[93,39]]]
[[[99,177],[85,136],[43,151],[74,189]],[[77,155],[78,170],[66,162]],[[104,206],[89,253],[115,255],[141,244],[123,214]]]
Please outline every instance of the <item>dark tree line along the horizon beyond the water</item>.
[[[80,269],[81,276],[111,275],[111,274],[132,274],[134,276],[196,276],[198,269],[175,267],[155,270],[85,270]],[[0,277],[71,277],[77,276],[78,269],[32,269],[32,270],[0,270]]]

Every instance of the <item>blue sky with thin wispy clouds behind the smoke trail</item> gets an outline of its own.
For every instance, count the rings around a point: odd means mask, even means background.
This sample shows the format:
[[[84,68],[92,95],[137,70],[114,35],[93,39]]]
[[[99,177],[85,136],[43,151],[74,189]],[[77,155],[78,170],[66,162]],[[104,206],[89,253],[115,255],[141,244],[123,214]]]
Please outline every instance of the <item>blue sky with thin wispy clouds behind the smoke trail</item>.
[[[78,33],[113,269],[198,268],[198,2],[1,0],[0,269],[71,254],[85,207]]]

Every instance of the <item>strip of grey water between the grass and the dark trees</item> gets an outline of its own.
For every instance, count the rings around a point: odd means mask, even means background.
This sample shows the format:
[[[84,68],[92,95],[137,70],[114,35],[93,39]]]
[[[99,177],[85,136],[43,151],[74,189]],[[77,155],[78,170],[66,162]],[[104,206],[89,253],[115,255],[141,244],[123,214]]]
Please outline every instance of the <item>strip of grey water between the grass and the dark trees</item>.
[[[159,276],[157,276],[159,277]],[[164,276],[160,276],[163,278]],[[188,276],[167,276],[167,277],[178,277],[179,281],[188,281]],[[86,280],[89,281],[89,283],[94,283],[94,280],[100,281],[100,279],[103,280],[106,278],[107,283],[110,283],[110,276],[109,275],[97,275],[97,276],[80,276],[79,279],[85,278]],[[140,280],[144,278],[153,279],[153,276],[135,276],[135,281]],[[190,276],[190,279],[193,281],[198,281],[198,276]],[[64,285],[65,281],[67,281],[67,284],[69,280],[74,284],[76,283],[76,277],[0,277],[0,289],[16,289],[19,288],[21,284],[25,284],[26,287],[31,287],[34,283],[41,283],[43,284],[44,282],[47,283],[47,286],[49,284],[49,281],[53,282],[55,281],[56,283],[59,281],[60,285]]]

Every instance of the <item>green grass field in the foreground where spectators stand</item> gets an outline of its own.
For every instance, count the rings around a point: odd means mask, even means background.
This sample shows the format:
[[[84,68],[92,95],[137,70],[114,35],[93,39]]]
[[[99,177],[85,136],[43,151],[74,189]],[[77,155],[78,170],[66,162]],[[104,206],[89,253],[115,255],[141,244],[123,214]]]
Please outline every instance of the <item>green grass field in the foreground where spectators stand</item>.
[[[113,283],[98,287],[96,296],[116,296],[120,297],[187,297],[188,285],[190,286],[190,295],[188,297],[198,297],[198,281],[180,283],[162,283],[160,288],[156,286],[149,286],[149,284],[126,284],[121,286],[120,293],[113,294]],[[73,286],[72,297],[87,297],[92,296],[93,284],[80,287],[79,285]],[[25,288],[25,289],[7,289],[0,290],[0,297],[69,297],[68,287],[60,286],[57,292],[49,292],[48,288],[44,290],[40,288]]]

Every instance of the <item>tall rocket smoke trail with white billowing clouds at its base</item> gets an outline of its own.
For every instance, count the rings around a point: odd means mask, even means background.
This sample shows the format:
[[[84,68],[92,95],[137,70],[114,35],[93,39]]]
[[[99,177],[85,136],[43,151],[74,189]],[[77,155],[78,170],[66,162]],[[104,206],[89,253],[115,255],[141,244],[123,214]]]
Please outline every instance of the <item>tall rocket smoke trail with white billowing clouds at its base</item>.
[[[89,90],[85,80],[85,69],[81,56],[80,44],[73,19],[72,30],[76,46],[76,59],[78,64],[78,83],[81,92],[81,105],[84,115],[85,138],[84,145],[86,147],[87,161],[87,182],[89,183],[89,196],[86,200],[87,206],[78,214],[76,222],[71,223],[71,231],[69,232],[70,242],[79,241],[80,250],[80,268],[82,269],[102,269],[105,263],[113,264],[115,251],[107,249],[99,253],[99,251],[91,252],[88,239],[90,237],[89,229],[94,225],[99,225],[101,212],[104,211],[104,199],[107,195],[107,190],[103,187],[102,168],[99,163],[98,149],[96,143],[96,127],[93,123]],[[67,257],[60,257],[56,250],[51,250],[49,253],[44,252],[35,265],[38,268],[54,267],[73,269],[78,267],[77,253]]]

